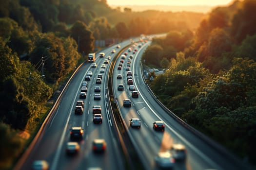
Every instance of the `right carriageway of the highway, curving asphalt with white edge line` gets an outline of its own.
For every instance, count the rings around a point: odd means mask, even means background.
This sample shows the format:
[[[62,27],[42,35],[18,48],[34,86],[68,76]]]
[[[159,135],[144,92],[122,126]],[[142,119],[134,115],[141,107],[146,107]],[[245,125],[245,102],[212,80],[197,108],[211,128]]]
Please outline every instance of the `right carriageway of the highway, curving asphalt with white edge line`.
[[[154,157],[158,152],[170,151],[173,144],[183,144],[187,150],[187,158],[185,161],[175,163],[175,170],[245,170],[247,169],[241,161],[236,160],[236,157],[229,157],[231,154],[223,155],[206,141],[191,133],[184,125],[181,125],[164,110],[154,96],[149,92],[147,85],[143,80],[140,58],[145,48],[150,42],[143,45],[133,54],[128,50],[126,59],[121,70],[118,70],[120,57],[116,62],[113,71],[113,91],[118,98],[118,107],[122,118],[125,121],[128,134],[134,143],[137,153],[140,156],[146,170],[157,170]],[[123,54],[123,53],[122,53]],[[133,85],[139,92],[138,98],[132,98],[127,85],[126,70],[128,56],[133,54],[131,60],[131,71],[133,72]],[[122,79],[117,79],[117,74],[122,75]],[[118,91],[117,86],[123,84],[123,91]],[[130,99],[132,107],[124,107],[123,100]],[[130,119],[139,118],[141,120],[141,128],[131,128]],[[153,122],[162,120],[165,123],[164,132],[156,132],[153,130]],[[217,145],[218,146],[218,145]],[[220,146],[221,147],[221,146]],[[221,148],[222,149],[222,148]]]

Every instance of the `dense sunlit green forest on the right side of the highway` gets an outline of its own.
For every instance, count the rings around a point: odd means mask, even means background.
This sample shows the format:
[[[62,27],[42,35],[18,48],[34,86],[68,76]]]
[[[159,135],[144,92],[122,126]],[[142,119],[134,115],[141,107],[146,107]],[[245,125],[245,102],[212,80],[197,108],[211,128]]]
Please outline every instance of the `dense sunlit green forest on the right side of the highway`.
[[[153,39],[144,65],[154,93],[180,119],[255,165],[255,0],[217,7],[195,34],[170,31]],[[158,58],[158,60],[156,60]],[[156,62],[159,61],[159,62]]]

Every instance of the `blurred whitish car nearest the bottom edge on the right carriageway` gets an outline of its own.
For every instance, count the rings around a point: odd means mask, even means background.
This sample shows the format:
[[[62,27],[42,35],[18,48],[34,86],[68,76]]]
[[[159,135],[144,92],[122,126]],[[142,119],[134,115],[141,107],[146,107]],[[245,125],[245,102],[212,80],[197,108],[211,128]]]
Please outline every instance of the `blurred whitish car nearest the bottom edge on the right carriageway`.
[[[169,152],[159,152],[155,157],[156,165],[161,169],[172,169],[175,165],[175,158]]]

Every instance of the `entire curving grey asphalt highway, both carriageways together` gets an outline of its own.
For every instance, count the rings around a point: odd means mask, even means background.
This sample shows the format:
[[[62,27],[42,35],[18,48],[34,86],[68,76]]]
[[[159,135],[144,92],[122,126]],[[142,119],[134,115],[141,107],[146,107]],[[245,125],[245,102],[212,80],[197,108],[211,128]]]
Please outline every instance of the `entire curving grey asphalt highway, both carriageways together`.
[[[130,41],[120,43],[121,47],[130,44]],[[108,107],[109,99],[107,96],[108,88],[113,88],[115,98],[118,98],[118,108],[125,122],[125,128],[131,141],[134,144],[135,150],[138,153],[141,162],[146,170],[155,170],[156,164],[154,157],[159,151],[166,151],[175,143],[181,143],[186,147],[187,159],[183,162],[177,162],[175,169],[177,170],[238,170],[246,169],[237,160],[223,155],[222,152],[216,150],[207,142],[191,133],[187,128],[170,117],[169,113],[163,109],[154,96],[149,92],[141,71],[140,58],[145,48],[150,42],[145,43],[138,51],[133,54],[131,60],[131,71],[133,71],[133,80],[136,90],[139,92],[138,98],[131,97],[131,91],[128,88],[126,80],[125,65],[128,57],[124,60],[124,65],[121,70],[114,67],[112,81],[113,87],[107,86],[107,74],[109,64],[106,64],[105,72],[100,73],[100,65],[103,64],[106,56],[110,55],[113,60],[114,55],[121,49],[116,49],[115,46],[106,48],[105,57],[99,58],[96,54],[97,68],[91,68],[90,63],[81,65],[73,78],[66,85],[58,105],[52,115],[47,119],[45,125],[40,131],[35,145],[31,152],[21,159],[16,168],[17,170],[30,170],[32,163],[35,160],[46,160],[49,163],[50,170],[87,170],[92,167],[98,167],[102,170],[124,170],[125,160],[118,137],[115,133],[110,107]],[[116,53],[111,53],[115,49]],[[125,50],[127,51],[127,50]],[[121,53],[122,54],[122,53]],[[128,52],[128,55],[132,52]],[[117,60],[119,63],[120,58]],[[88,71],[92,71],[91,80],[88,81],[88,91],[84,101],[84,111],[82,115],[75,115],[74,109],[76,102],[79,99],[81,82],[84,81]],[[102,84],[96,84],[98,74],[102,74]],[[117,79],[117,74],[122,75],[122,79]],[[123,84],[124,91],[118,91],[117,85]],[[94,87],[101,87],[101,100],[94,100]],[[97,92],[98,93],[98,92]],[[122,101],[130,99],[132,107],[123,107]],[[93,105],[101,105],[101,114],[103,121],[101,124],[93,123],[92,107]],[[140,129],[132,129],[130,127],[130,119],[139,118],[141,120]],[[156,132],[153,130],[153,122],[162,120],[165,123],[164,132]],[[66,143],[70,141],[70,128],[82,127],[84,129],[83,139],[79,141],[80,152],[78,155],[67,156]],[[104,138],[107,143],[106,152],[95,154],[92,150],[92,142],[95,138]],[[136,165],[138,162],[134,162]],[[135,166],[136,167],[136,166]]]

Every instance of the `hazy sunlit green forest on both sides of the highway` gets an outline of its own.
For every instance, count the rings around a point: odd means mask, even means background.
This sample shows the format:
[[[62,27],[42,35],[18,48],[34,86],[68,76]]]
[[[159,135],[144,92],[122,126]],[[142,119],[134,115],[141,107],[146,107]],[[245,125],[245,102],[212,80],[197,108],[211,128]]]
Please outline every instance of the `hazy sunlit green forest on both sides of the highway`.
[[[167,98],[164,104],[189,124],[254,160],[253,0],[235,1],[208,15],[121,12],[106,0],[0,3],[0,169],[12,169],[51,108],[47,101],[84,62],[82,53],[94,51],[95,40],[159,33],[168,34],[154,39],[143,57],[147,65],[170,68],[156,76],[160,87],[152,84],[160,99]],[[30,137],[20,137],[22,132]]]

